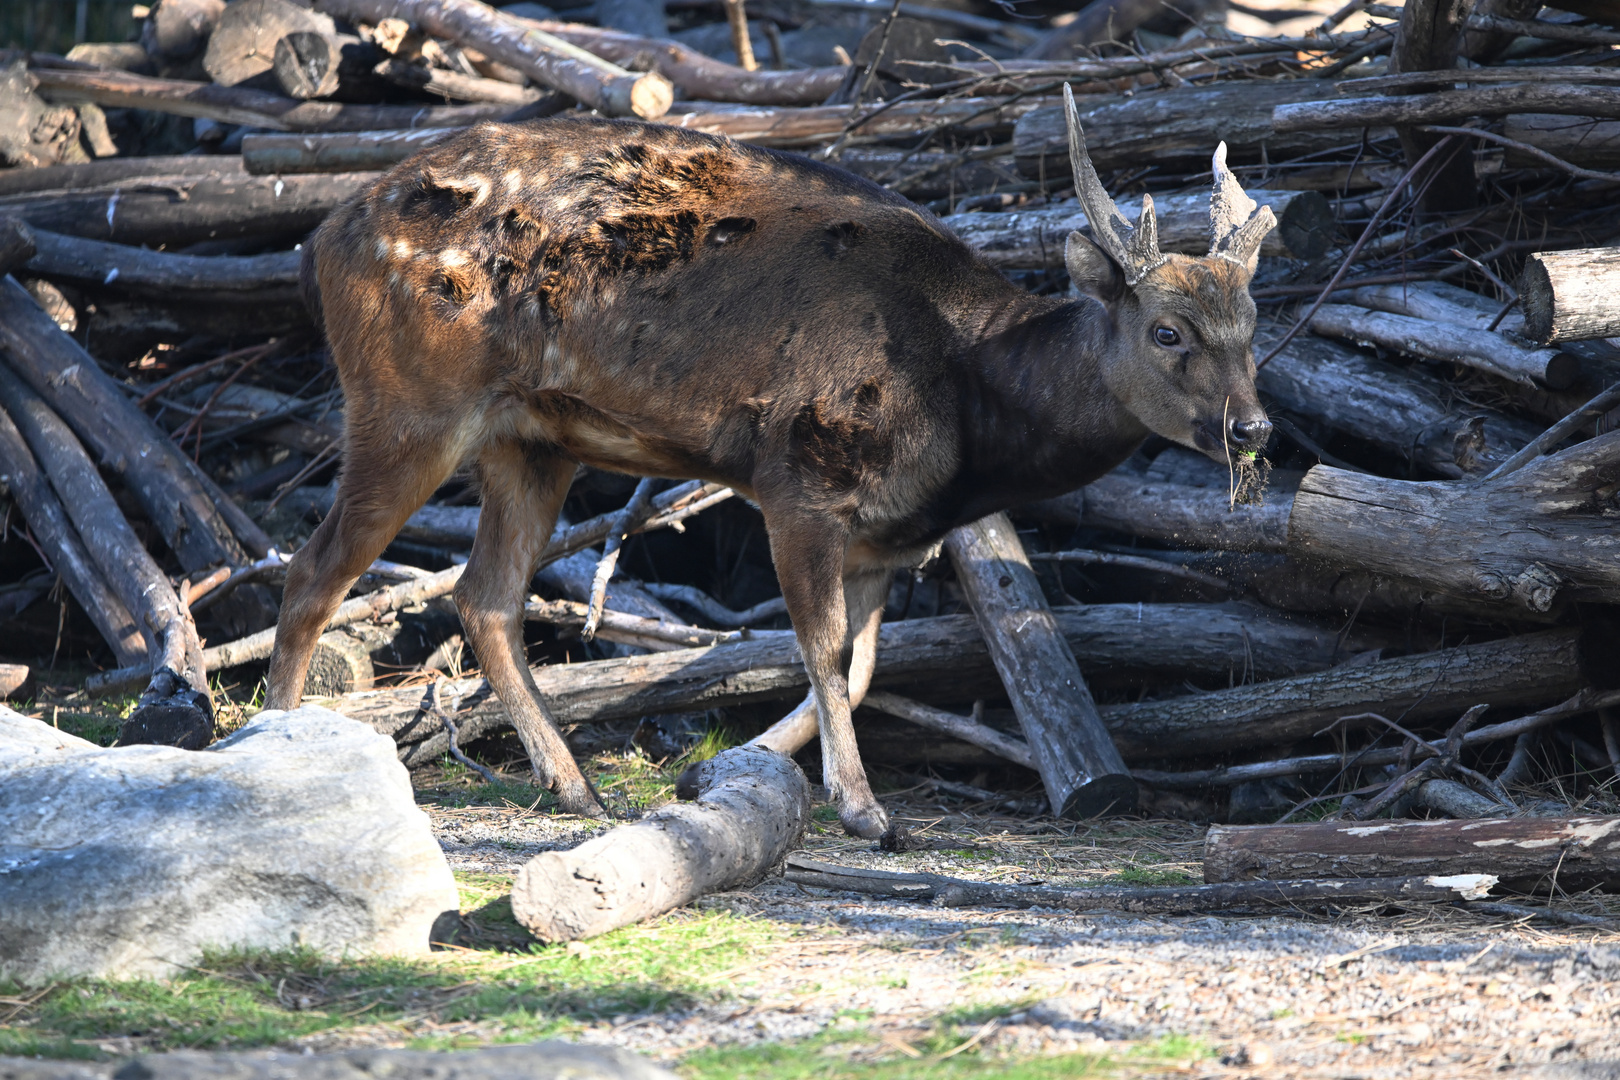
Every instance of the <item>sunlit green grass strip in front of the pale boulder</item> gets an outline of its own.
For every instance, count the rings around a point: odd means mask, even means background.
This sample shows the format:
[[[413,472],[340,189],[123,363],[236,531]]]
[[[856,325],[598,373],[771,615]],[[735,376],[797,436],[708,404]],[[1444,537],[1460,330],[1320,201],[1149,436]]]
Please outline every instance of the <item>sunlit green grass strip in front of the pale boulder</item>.
[[[494,929],[510,907],[492,874],[463,876],[468,915]],[[421,960],[228,952],[170,980],[0,983],[0,1054],[83,1057],[117,1040],[143,1051],[251,1048],[318,1031],[397,1023],[411,1046],[450,1049],[551,1038],[580,1022],[727,996],[729,970],[787,936],[729,912],[677,912],[573,946],[458,947]],[[434,1035],[476,1022],[478,1033]],[[423,1035],[415,1035],[423,1031]]]

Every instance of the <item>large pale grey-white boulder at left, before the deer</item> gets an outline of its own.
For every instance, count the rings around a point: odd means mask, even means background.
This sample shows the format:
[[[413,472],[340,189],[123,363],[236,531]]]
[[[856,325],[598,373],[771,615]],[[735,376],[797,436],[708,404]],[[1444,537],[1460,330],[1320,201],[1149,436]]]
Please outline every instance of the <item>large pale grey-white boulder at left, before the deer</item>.
[[[394,740],[261,712],[204,751],[0,716],[0,980],[167,976],[207,947],[428,952],[455,881]]]

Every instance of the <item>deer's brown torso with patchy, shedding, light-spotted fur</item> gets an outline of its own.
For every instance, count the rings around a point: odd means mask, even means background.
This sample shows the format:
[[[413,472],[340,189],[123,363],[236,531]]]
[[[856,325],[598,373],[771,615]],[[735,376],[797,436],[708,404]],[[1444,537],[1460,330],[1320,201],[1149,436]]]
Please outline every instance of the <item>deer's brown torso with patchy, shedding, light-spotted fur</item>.
[[[361,413],[373,390],[538,416],[586,461],[745,486],[771,457],[834,487],[949,457],[970,342],[1017,295],[876,185],[627,121],[481,125],[335,214],[314,259]]]

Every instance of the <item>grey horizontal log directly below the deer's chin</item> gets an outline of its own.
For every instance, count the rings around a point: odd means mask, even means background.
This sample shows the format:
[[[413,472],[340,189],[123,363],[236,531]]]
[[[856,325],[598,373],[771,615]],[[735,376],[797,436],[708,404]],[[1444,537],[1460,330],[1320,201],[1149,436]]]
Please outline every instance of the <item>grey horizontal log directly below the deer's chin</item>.
[[[1290,499],[1275,492],[1259,507],[1233,505],[1226,491],[1116,470],[1022,513],[1183,547],[1280,552],[1288,547],[1288,507]]]

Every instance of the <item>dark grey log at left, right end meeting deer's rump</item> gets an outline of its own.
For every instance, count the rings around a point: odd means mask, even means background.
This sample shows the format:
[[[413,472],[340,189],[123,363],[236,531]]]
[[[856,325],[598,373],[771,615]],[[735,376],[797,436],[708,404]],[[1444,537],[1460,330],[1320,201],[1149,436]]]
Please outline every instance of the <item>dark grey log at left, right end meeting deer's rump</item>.
[[[188,298],[243,298],[254,303],[298,300],[296,251],[261,256],[188,256],[34,230],[37,253],[28,269],[40,277],[117,285]]]

